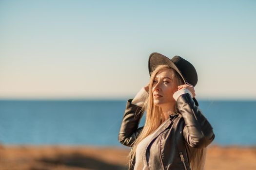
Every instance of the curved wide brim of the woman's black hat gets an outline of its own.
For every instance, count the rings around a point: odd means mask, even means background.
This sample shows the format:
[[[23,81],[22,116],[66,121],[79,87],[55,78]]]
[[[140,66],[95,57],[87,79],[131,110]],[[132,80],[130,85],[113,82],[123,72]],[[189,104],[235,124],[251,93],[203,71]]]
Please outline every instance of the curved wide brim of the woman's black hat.
[[[177,68],[177,66],[172,62],[171,59],[168,57],[158,53],[158,52],[153,52],[150,54],[149,59],[148,59],[148,69],[149,69],[149,75],[151,76],[151,73],[155,70],[156,67],[159,65],[168,65],[171,68],[175,69],[177,73],[180,75],[182,81],[184,84],[186,84],[186,80],[184,79],[183,75],[181,74],[180,70]],[[198,106],[198,102],[196,98],[193,98],[193,101],[195,104]]]

